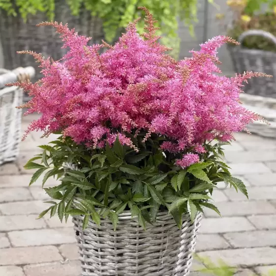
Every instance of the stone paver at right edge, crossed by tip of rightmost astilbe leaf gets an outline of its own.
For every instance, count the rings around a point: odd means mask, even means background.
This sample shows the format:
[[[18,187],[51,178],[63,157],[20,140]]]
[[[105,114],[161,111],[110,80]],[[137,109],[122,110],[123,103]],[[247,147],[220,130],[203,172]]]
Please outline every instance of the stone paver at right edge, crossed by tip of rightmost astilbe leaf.
[[[276,198],[276,186],[269,187],[248,187],[248,196],[250,200],[263,200]],[[227,189],[223,191],[232,201],[244,201],[246,196],[243,193],[236,192],[235,189]]]

